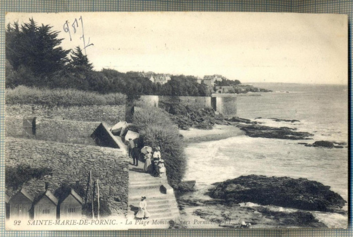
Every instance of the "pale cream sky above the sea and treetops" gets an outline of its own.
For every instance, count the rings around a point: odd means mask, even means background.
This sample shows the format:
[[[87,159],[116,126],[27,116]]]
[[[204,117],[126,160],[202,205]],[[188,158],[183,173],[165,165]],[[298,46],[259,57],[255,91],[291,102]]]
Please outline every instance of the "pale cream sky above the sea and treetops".
[[[84,48],[95,70],[153,71],[241,82],[347,84],[347,16],[298,13],[7,13],[61,31],[64,49]],[[82,22],[81,22],[81,19]],[[77,19],[78,24],[75,23]],[[64,31],[68,21],[69,32]],[[72,27],[75,24],[75,29]],[[70,39],[71,36],[71,39]],[[89,41],[89,43],[88,43]]]

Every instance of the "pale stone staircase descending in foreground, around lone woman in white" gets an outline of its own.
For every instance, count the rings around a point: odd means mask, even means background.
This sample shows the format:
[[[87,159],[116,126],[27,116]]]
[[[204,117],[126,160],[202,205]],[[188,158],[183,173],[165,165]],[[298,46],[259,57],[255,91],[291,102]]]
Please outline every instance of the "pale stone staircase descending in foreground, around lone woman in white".
[[[132,161],[132,160],[131,160]],[[169,224],[164,222],[175,220],[179,217],[179,208],[173,189],[169,186],[167,178],[154,177],[151,174],[143,172],[143,162],[139,166],[129,165],[129,205],[128,220],[135,223],[135,214],[138,211],[138,205],[142,196],[146,197],[147,210],[150,217],[149,226],[133,225],[134,228],[167,228]],[[152,221],[154,224],[151,224]],[[159,223],[159,224],[156,224]]]

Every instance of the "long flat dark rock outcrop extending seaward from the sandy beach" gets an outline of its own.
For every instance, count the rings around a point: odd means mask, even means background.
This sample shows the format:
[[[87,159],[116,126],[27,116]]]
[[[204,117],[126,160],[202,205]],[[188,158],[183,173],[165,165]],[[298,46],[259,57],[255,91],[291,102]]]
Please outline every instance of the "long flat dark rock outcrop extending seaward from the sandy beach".
[[[307,140],[312,139],[309,136],[313,134],[309,132],[297,132],[296,128],[289,127],[269,127],[264,125],[237,125],[245,134],[251,137],[278,138],[290,140]]]

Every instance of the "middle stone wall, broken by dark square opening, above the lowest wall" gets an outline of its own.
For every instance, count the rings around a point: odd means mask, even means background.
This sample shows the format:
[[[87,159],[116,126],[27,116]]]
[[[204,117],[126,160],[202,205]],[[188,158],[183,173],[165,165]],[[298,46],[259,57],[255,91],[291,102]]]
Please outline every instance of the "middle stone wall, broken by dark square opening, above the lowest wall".
[[[99,124],[99,122],[37,118],[36,135],[32,138],[95,146],[96,143],[90,136]],[[23,137],[23,118],[6,117],[5,126],[6,136]]]

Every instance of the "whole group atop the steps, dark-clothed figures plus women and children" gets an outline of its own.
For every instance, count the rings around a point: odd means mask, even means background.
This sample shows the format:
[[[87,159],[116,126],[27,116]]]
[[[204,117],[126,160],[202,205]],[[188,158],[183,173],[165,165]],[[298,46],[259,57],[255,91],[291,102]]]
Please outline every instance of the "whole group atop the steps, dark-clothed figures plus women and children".
[[[133,158],[134,165],[138,166],[141,153],[137,144],[135,144],[134,140],[131,138],[129,139],[128,148],[129,156]],[[155,147],[154,149],[149,147],[149,149],[144,150],[144,160],[145,166],[143,171],[160,178],[164,176],[166,169],[164,166],[164,160],[162,160],[160,155],[160,147]]]

